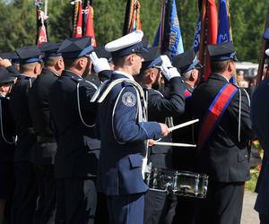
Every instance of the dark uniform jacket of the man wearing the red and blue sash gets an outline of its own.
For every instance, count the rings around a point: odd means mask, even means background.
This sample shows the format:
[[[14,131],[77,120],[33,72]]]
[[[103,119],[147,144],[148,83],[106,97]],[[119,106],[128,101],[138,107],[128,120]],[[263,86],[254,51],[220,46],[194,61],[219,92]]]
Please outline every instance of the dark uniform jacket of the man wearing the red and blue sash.
[[[195,126],[197,141],[200,125],[213,102],[213,99],[227,80],[220,74],[213,73],[207,82],[201,83],[193,92],[192,109],[194,118],[200,122]],[[251,130],[250,109],[247,92],[241,90],[240,142],[239,132],[239,90],[230,100],[220,123],[213,134],[198,151],[198,172],[205,173],[214,181],[244,182],[249,178],[247,159],[247,141],[254,137]]]

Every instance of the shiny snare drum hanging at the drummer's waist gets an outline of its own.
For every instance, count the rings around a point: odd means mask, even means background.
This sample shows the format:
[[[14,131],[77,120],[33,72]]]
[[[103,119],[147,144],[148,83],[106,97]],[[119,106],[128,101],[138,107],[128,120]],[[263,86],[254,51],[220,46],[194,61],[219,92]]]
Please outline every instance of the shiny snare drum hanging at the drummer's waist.
[[[145,183],[153,191],[204,198],[207,192],[208,176],[188,171],[152,168],[150,173],[145,174]]]

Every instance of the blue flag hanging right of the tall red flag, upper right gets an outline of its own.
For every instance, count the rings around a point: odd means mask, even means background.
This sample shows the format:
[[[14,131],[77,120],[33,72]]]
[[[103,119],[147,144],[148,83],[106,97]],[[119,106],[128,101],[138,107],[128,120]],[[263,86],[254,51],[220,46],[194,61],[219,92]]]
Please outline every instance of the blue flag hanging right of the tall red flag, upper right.
[[[220,0],[219,5],[219,28],[218,28],[218,43],[230,41],[230,26],[228,20],[228,11],[226,0]]]

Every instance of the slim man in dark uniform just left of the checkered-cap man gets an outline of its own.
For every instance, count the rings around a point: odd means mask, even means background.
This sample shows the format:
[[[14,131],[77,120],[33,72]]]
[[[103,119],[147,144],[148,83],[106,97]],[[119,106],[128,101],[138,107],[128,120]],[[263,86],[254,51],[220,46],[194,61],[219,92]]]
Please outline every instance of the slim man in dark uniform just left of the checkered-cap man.
[[[53,177],[56,138],[48,96],[51,86],[65,68],[62,54],[57,53],[59,46],[49,42],[40,46],[45,67],[33,82],[29,93],[30,117],[37,136],[34,152],[39,177],[39,206],[35,219],[38,223],[54,223],[56,210],[56,180]]]

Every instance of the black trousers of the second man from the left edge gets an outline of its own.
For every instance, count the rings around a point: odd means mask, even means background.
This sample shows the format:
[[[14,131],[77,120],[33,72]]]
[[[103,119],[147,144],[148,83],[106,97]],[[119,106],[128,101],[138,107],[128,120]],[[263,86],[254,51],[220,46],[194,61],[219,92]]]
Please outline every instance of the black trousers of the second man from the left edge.
[[[14,164],[15,190],[12,207],[13,224],[31,224],[37,205],[38,185],[32,163]]]

